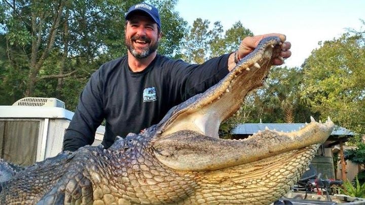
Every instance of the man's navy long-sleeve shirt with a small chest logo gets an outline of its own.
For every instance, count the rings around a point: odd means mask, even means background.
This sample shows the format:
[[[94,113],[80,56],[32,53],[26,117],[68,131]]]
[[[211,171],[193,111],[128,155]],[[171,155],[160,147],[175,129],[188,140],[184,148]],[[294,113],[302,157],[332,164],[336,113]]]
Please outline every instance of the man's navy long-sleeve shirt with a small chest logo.
[[[105,119],[102,145],[117,135],[138,133],[157,124],[170,108],[204,92],[228,74],[229,54],[203,64],[189,64],[157,55],[141,72],[132,72],[128,57],[109,61],[91,76],[63,140],[63,150],[75,151],[94,142]]]

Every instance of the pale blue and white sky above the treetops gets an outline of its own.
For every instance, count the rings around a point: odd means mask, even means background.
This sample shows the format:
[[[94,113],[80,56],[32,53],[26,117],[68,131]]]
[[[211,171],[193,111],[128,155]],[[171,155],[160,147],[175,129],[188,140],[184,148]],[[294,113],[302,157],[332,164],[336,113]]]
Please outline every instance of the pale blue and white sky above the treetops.
[[[347,28],[365,30],[365,0],[179,0],[175,10],[192,26],[197,18],[211,25],[221,21],[225,30],[241,21],[254,35],[283,33],[291,43],[286,66],[301,66],[319,41],[333,40]]]

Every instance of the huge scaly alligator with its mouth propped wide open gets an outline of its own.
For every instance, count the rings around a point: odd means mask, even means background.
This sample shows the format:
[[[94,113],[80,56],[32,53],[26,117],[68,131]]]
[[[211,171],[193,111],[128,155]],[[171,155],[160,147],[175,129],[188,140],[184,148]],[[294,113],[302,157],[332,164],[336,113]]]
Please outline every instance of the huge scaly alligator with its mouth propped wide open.
[[[306,170],[331,119],[298,131],[218,137],[248,92],[262,86],[281,40],[263,39],[219,83],[173,107],[160,123],[36,162],[2,182],[0,203],[270,204]]]

